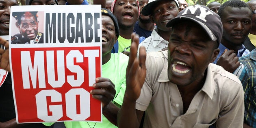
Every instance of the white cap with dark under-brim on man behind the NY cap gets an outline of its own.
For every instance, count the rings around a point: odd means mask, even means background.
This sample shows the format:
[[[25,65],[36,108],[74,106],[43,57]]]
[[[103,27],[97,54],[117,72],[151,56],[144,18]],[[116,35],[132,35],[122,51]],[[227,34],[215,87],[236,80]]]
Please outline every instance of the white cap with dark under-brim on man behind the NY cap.
[[[152,8],[155,7],[156,3],[159,2],[159,1],[161,1],[161,0],[149,0],[149,1],[148,1],[148,4],[146,4],[146,5],[143,7],[141,13],[142,13],[143,15],[150,15],[150,14],[151,14],[151,11],[152,11]],[[165,1],[167,1],[167,0],[165,0]],[[174,2],[176,2],[177,7],[179,8],[178,0],[169,0],[169,1],[174,1]]]

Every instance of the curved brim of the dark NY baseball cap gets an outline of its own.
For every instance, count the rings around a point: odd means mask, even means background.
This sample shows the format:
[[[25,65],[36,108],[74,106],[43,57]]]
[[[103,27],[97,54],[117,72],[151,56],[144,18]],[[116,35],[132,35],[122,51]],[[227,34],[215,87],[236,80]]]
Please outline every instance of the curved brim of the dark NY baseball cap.
[[[207,35],[212,39],[212,41],[217,41],[217,37],[213,34],[213,32],[205,24],[203,24],[202,22],[199,22],[193,18],[190,18],[190,17],[184,17],[184,16],[176,17],[176,18],[170,20],[166,24],[166,27],[172,27],[176,23],[185,21],[185,20],[192,21],[192,22],[199,24],[204,29],[204,31],[207,33]]]

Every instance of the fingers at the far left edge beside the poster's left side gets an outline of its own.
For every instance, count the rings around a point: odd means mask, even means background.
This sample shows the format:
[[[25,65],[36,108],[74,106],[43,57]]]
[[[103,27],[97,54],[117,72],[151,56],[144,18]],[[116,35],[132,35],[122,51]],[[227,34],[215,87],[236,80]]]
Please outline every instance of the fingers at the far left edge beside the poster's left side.
[[[0,48],[0,68],[10,72],[9,42],[5,39],[0,38],[0,44],[2,44],[5,47],[5,50]]]

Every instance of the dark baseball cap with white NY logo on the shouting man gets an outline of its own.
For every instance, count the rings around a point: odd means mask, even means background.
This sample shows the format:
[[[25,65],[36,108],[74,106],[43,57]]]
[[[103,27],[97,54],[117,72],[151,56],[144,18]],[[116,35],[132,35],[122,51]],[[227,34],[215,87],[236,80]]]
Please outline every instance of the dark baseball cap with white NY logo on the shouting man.
[[[189,6],[180,11],[174,19],[170,20],[166,26],[175,26],[178,22],[189,20],[202,26],[212,41],[220,43],[223,26],[217,13],[211,11],[203,5]]]

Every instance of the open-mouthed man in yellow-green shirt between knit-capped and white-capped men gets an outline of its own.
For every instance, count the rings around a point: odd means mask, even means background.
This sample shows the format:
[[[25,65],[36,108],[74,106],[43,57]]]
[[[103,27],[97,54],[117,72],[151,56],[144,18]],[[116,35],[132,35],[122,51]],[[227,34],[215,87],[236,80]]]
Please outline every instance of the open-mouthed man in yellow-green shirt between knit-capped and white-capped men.
[[[135,32],[134,26],[138,20],[140,8],[138,0],[114,0],[111,7],[112,13],[117,17],[120,35],[114,44],[112,53],[122,52],[129,56],[131,34]],[[145,37],[140,37],[142,42]]]

